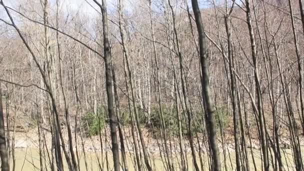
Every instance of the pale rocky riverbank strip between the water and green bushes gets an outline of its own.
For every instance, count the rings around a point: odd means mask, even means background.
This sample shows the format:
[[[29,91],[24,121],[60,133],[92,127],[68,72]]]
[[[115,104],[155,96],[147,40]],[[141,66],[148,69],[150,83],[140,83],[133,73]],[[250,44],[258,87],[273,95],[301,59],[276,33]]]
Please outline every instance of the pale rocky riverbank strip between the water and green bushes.
[[[65,141],[65,145],[67,145],[67,133],[66,129],[63,128],[63,137]],[[87,152],[92,151],[110,151],[111,150],[111,144],[110,144],[110,136],[108,127],[105,128],[106,133],[101,134],[101,141],[100,137],[97,136],[80,136],[80,132],[73,132],[73,146],[74,148],[77,146],[79,150],[84,150]],[[131,130],[129,127],[124,127],[124,145],[125,145],[125,151],[132,153],[134,151],[134,143],[131,136]],[[144,141],[146,144],[147,151],[150,154],[158,154],[160,151],[163,151],[165,143],[161,139],[155,139],[153,138],[152,134],[146,129],[142,128]],[[11,143],[11,137],[13,135],[12,132],[9,133],[10,135],[10,144]],[[76,136],[76,137],[75,137]],[[199,135],[198,135],[199,136]],[[203,137],[201,135],[201,137]],[[304,138],[303,136],[299,137],[300,144],[304,145]],[[194,138],[194,148],[196,151],[207,151],[207,142],[203,138],[198,138],[199,143],[197,141],[197,138]],[[250,143],[251,141],[251,143]],[[252,147],[253,149],[259,149],[259,141],[258,139],[251,138],[250,141],[247,139],[247,148]],[[101,142],[101,143],[100,143]],[[50,148],[51,146],[51,134],[47,129],[44,129],[43,131],[43,143],[45,146]],[[137,139],[137,144],[139,144],[139,139]],[[183,142],[183,150],[185,152],[190,152],[190,144],[188,140],[184,140]],[[172,153],[178,153],[180,152],[180,145],[178,138],[170,138],[167,140],[166,145],[169,146]],[[231,138],[227,138],[225,143],[222,143],[220,140],[218,141],[219,149],[220,151],[223,151],[225,149],[226,152],[233,152],[234,151],[234,142]],[[280,145],[282,148],[291,148],[290,140],[287,139],[287,137],[281,137],[280,138]],[[38,132],[37,128],[30,128],[26,131],[18,131],[15,132],[15,140],[14,140],[14,147],[15,148],[37,148],[39,147],[39,139],[38,139]],[[120,145],[119,145],[120,148]]]

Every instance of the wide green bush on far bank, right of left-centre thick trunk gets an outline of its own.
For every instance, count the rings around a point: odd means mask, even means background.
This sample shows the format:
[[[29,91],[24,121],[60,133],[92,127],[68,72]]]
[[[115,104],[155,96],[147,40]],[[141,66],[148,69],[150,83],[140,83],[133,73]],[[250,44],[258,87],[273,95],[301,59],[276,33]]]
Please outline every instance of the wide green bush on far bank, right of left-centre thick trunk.
[[[161,105],[163,121],[165,124],[166,135],[177,136],[178,135],[178,119],[177,119],[177,110],[176,106],[167,106]],[[187,122],[188,116],[187,113],[180,111],[181,117],[181,133],[184,135],[188,134]],[[144,125],[149,131],[153,132],[153,135],[160,136],[161,130],[161,116],[159,113],[159,106],[151,106],[150,115],[148,116],[146,111],[142,110],[137,106],[137,114],[139,117],[139,123]],[[225,126],[227,124],[227,112],[224,107],[219,108],[215,111],[216,124],[218,127],[218,120],[220,119],[221,123]],[[130,123],[130,113],[127,109],[121,110],[120,113],[120,123],[129,124]],[[204,113],[202,110],[192,111],[191,113],[191,132],[204,132]]]

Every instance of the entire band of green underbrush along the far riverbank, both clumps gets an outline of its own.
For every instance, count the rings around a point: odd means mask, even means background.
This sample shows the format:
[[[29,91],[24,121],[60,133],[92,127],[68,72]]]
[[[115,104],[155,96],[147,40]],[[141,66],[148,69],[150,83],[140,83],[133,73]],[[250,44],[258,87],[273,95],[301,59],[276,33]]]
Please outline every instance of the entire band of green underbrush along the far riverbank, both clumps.
[[[180,133],[187,136],[188,131],[188,113],[181,111],[179,113],[180,120],[178,121],[177,110],[175,106],[168,107],[166,105],[161,106],[162,114],[160,113],[159,106],[151,107],[150,114],[137,107],[137,114],[139,123],[146,127],[154,137],[159,137],[166,133],[168,137],[177,136]],[[121,125],[128,125],[131,121],[131,114],[128,109],[123,109],[119,113],[119,123]],[[203,133],[205,131],[204,113],[201,110],[189,111],[191,132]],[[228,110],[225,107],[217,107],[215,110],[216,128],[219,130],[221,125],[225,128],[229,124]],[[81,126],[85,134],[88,136],[97,135],[99,130],[104,128],[105,123],[108,123],[107,111],[102,107],[97,110],[97,113],[87,112],[81,117]],[[161,131],[163,130],[163,131]]]

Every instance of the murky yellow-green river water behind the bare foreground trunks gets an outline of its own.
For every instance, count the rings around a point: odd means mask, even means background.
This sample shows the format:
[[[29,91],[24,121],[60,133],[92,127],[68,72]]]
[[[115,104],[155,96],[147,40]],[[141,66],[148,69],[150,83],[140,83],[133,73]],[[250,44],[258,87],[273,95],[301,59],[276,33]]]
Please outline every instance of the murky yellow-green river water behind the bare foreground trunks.
[[[248,153],[249,149],[248,149]],[[105,158],[105,154],[103,153],[103,157],[101,156],[101,153],[95,153],[95,152],[86,152],[85,153],[85,158],[87,161],[87,167],[85,166],[85,162],[84,162],[84,155],[79,154],[79,168],[80,170],[84,170],[84,171],[94,171],[94,170],[101,170],[98,164],[98,160],[97,158],[99,158],[99,163],[101,165],[102,170],[107,170],[107,164],[106,164],[106,158]],[[255,160],[255,164],[257,167],[257,170],[261,170],[261,159],[260,159],[260,155],[259,155],[259,151],[258,150],[254,150],[253,152],[253,156],[254,156],[254,160]],[[62,157],[64,158],[64,156],[62,155]],[[230,157],[228,155],[228,153],[226,152],[226,163],[227,163],[227,170],[233,170],[231,168],[231,163],[234,166],[235,169],[235,162],[234,162],[234,153],[230,152]],[[154,170],[165,170],[163,162],[161,161],[160,156],[151,156],[150,157],[150,162],[152,163],[152,167]],[[191,161],[191,157],[190,155],[188,155],[188,170],[193,170],[192,167],[192,161]],[[204,165],[207,166],[208,162],[205,159],[206,156],[202,156],[202,160],[204,162]],[[16,171],[28,171],[28,170],[40,170],[40,164],[39,164],[39,153],[38,153],[38,149],[37,148],[17,148],[15,149],[15,159],[16,159],[16,164],[15,164],[15,170]],[[134,156],[131,154],[127,155],[127,163],[128,163],[128,168],[130,171],[135,170],[134,169]],[[223,161],[223,154],[221,154],[221,159],[222,159],[222,166],[224,165],[224,161]],[[199,158],[197,158],[197,161],[199,160]],[[252,162],[252,157],[251,155],[249,155],[249,160],[250,160],[250,167],[251,170],[254,170],[253,167],[253,162]],[[292,151],[290,149],[285,149],[282,152],[282,161],[284,164],[285,169],[287,170],[287,167],[290,170],[294,170],[293,167],[293,160],[292,160]],[[43,170],[50,170],[49,167],[49,163],[46,163],[46,167],[44,166]],[[143,161],[142,161],[143,163]],[[177,163],[180,163],[180,159],[177,157],[173,157],[173,163],[176,166],[175,170],[179,170],[179,168],[177,167]],[[108,167],[109,170],[112,170],[112,156],[110,155],[110,152],[108,152]],[[12,170],[12,160],[10,163],[10,169]],[[206,170],[208,170],[208,168],[205,168]],[[66,163],[64,164],[64,170],[68,170]],[[223,169],[225,170],[225,169]]]

